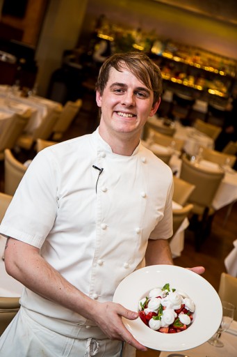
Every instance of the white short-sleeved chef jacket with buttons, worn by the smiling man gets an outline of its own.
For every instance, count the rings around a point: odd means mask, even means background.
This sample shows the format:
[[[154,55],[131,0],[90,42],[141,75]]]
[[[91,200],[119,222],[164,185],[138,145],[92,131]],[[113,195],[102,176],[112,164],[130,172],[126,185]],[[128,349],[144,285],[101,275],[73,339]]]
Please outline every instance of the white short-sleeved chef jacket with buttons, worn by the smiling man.
[[[0,232],[40,248],[84,294],[111,301],[121,280],[140,266],[148,239],[172,236],[172,172],[141,144],[131,156],[113,153],[97,129],[36,155]],[[57,319],[55,329],[67,321],[72,337],[75,324],[93,324],[27,288],[20,303],[28,313]]]

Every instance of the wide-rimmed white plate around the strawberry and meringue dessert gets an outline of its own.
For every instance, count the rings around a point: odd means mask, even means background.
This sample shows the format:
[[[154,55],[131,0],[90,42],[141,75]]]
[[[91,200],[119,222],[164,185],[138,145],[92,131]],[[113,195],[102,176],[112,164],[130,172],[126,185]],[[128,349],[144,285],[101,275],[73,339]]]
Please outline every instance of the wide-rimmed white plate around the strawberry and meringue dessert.
[[[141,344],[159,351],[184,351],[203,344],[214,335],[222,319],[220,298],[202,276],[186,268],[156,265],[141,268],[128,275],[115,291],[113,301],[129,310],[138,311],[138,303],[150,290],[170,283],[172,288],[186,292],[195,303],[193,323],[180,333],[159,333],[146,326],[138,317],[123,322]]]

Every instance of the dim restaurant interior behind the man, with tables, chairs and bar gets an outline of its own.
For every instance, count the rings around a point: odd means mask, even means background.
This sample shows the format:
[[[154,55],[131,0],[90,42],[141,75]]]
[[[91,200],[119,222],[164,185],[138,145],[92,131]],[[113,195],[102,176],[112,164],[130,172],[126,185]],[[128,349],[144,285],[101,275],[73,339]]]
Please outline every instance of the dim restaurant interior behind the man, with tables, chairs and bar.
[[[237,309],[236,1],[0,0],[0,13],[0,220],[39,151],[99,125],[95,82],[106,57],[145,52],[161,68],[163,94],[140,140],[174,175],[174,264],[204,266]],[[3,259],[0,269],[1,335],[22,287]],[[1,318],[7,298],[15,305]],[[205,342],[188,356],[236,357],[237,312],[230,331],[222,349]],[[185,356],[136,356],[159,353]]]

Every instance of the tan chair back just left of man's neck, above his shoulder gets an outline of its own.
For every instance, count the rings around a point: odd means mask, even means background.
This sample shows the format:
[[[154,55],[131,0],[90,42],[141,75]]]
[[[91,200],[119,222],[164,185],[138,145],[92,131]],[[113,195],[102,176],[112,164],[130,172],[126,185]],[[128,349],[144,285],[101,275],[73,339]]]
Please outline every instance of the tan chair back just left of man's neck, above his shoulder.
[[[76,102],[72,102],[68,100],[63,107],[63,111],[61,112],[56,124],[53,128],[53,140],[60,140],[63,137],[63,134],[70,127],[70,124],[74,120],[75,116],[79,113],[79,110],[82,106],[82,100],[76,100]]]

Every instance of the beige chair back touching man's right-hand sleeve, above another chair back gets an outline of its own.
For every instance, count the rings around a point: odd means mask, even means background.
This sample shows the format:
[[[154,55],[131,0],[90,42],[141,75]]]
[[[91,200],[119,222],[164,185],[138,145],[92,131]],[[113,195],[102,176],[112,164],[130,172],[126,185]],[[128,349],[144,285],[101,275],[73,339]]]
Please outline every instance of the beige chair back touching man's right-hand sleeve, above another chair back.
[[[177,204],[181,204],[184,206],[188,201],[191,193],[195,189],[195,185],[179,179],[179,177],[174,176],[174,194],[173,194],[173,201],[177,202]]]

